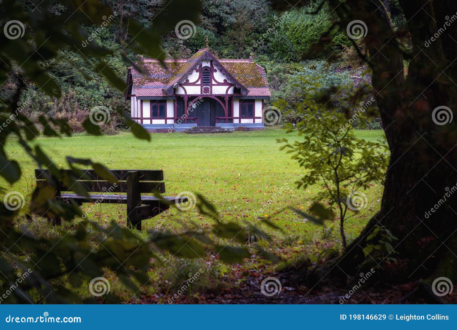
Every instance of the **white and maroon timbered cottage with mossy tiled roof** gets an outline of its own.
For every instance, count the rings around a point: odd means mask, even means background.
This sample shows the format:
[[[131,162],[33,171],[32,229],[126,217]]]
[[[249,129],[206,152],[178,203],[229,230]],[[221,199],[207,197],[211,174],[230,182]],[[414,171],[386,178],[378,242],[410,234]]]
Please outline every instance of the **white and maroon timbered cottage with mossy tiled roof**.
[[[264,100],[270,99],[265,69],[252,59],[217,59],[209,48],[189,59],[144,59],[128,69],[126,98],[133,120],[150,132],[194,126],[264,130]]]

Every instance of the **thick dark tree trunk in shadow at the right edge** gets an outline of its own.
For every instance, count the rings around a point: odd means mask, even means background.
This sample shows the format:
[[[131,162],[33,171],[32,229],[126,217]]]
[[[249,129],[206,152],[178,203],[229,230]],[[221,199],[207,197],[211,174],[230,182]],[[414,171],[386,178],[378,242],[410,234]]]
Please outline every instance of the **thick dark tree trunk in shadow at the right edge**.
[[[457,27],[449,27],[446,37],[443,34],[425,47],[444,24],[444,16],[435,23],[430,14],[457,12],[455,1],[443,2],[437,9],[427,0],[400,0],[413,46],[406,75],[404,53],[384,10],[372,1],[347,0],[347,6],[340,6],[339,1],[329,0],[342,30],[354,20],[367,25],[368,64],[391,158],[381,209],[341,257],[314,273],[316,281],[329,269],[345,280],[347,275],[379,266],[377,276],[389,282],[438,277],[457,282],[453,252],[457,247],[457,129],[451,120],[457,118],[457,47],[452,42],[452,38],[457,42]],[[434,112],[442,106],[450,110]],[[444,111],[441,115],[440,110]],[[362,248],[376,226],[398,238],[392,243],[398,254],[365,257]],[[395,257],[397,262],[388,262],[386,257]]]

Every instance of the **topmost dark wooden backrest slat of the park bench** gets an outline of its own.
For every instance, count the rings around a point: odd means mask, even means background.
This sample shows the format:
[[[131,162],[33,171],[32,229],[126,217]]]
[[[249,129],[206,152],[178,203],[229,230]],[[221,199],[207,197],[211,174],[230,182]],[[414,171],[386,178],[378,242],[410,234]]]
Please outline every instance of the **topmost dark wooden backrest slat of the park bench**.
[[[72,170],[64,170],[67,174],[72,175],[77,180],[104,180],[98,176],[94,170],[83,170],[84,176],[77,178]],[[162,181],[164,179],[164,172],[162,170],[110,170],[111,173],[121,181],[127,180],[127,173],[130,171],[138,171],[140,181]],[[37,168],[35,170],[35,177],[37,179],[47,179],[46,173],[50,174],[49,170]]]

